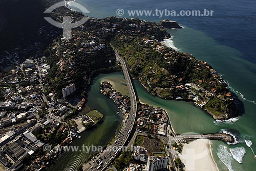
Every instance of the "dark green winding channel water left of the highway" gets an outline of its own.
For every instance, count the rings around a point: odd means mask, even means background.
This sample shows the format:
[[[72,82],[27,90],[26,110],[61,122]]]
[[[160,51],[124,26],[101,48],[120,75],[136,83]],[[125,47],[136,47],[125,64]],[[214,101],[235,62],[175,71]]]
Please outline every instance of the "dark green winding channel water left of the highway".
[[[110,142],[110,140],[116,135],[116,131],[122,123],[122,115],[117,114],[119,110],[116,104],[100,93],[100,83],[104,77],[105,75],[100,75],[94,80],[87,99],[87,107],[89,107],[90,110],[97,109],[104,115],[104,117],[95,127],[93,127],[93,129],[82,132],[80,134],[81,138],[75,139],[71,144],[73,146],[79,146],[80,150],[83,144],[86,146],[104,146],[108,144],[108,142]],[[117,82],[116,86],[119,87],[118,80],[113,78],[113,81]],[[123,89],[125,91],[125,88]],[[80,154],[81,152],[79,151],[66,152],[58,159],[55,165],[48,169],[48,171],[70,170],[71,166]],[[81,163],[84,161],[89,154],[91,154],[91,152],[83,153],[83,157],[79,159],[79,162]]]

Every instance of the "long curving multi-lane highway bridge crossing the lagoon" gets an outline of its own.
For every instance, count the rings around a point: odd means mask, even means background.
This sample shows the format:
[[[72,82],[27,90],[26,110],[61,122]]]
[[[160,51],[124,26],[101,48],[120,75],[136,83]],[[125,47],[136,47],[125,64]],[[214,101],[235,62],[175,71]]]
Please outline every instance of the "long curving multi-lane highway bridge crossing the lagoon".
[[[130,136],[133,125],[135,123],[137,112],[135,91],[124,60],[118,56],[118,53],[116,51],[115,55],[117,61],[119,61],[122,66],[124,78],[129,89],[131,99],[130,115],[127,118],[126,123],[123,124],[123,127],[118,134],[116,141],[108,147],[108,149],[111,150],[104,150],[102,153],[99,154],[99,156],[94,156],[92,160],[90,160],[86,165],[83,166],[83,170],[104,170],[114,160],[118,153],[122,151],[124,144]],[[96,162],[96,160],[98,160],[98,162]]]

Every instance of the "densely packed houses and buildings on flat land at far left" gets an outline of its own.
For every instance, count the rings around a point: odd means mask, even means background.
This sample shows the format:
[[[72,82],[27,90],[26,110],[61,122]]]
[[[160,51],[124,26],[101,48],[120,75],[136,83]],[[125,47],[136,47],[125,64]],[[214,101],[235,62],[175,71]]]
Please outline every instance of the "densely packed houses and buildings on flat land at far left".
[[[45,94],[42,91],[41,82],[49,74],[50,66],[46,58],[37,60],[27,59],[21,65],[8,72],[3,72],[0,77],[0,162],[11,170],[24,168],[24,158],[38,152],[45,142],[36,138],[34,131],[51,128],[50,132],[59,129],[62,116],[69,114],[70,110],[65,101],[56,100],[55,93]],[[46,104],[51,107],[54,119],[40,116],[39,111],[50,113],[48,108],[41,110]],[[79,105],[83,105],[85,100]],[[41,112],[42,113],[42,112]],[[6,130],[6,131],[5,131]],[[60,132],[68,131],[67,127],[61,127]],[[69,136],[61,144],[70,144],[76,130],[70,130]],[[56,160],[58,154],[49,153],[46,156],[34,160],[28,169],[36,170],[44,168],[45,161]],[[27,166],[27,165],[26,165]]]

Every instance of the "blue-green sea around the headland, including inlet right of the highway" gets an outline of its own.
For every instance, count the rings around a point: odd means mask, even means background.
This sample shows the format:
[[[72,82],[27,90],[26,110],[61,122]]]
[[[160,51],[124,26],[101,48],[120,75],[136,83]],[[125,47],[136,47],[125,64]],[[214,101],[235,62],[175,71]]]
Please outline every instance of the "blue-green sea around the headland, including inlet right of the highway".
[[[77,0],[97,18],[117,16],[116,10],[214,10],[213,16],[138,16],[143,20],[158,22],[162,19],[176,20],[184,28],[168,29],[172,35],[166,40],[169,46],[180,52],[193,54],[207,61],[220,72],[230,89],[244,105],[244,113],[230,120],[215,121],[190,103],[162,101],[150,97],[135,81],[142,101],[159,104],[165,108],[177,133],[230,132],[237,137],[237,144],[212,141],[212,152],[218,168],[222,170],[254,170],[256,160],[256,2],[238,1],[134,1],[134,0]],[[135,18],[125,13],[122,17]],[[117,76],[113,76],[117,77]],[[119,76],[118,76],[119,77]],[[178,124],[182,120],[183,124]],[[178,123],[177,123],[178,122]]]

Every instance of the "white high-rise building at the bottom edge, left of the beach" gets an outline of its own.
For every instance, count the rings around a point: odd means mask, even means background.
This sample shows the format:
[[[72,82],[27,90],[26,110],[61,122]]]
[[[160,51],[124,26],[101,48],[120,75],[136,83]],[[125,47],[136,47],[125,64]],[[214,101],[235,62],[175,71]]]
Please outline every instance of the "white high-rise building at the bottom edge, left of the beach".
[[[166,156],[150,156],[147,160],[147,171],[155,171],[162,168],[166,168],[168,159]]]

